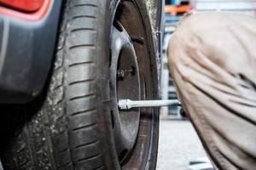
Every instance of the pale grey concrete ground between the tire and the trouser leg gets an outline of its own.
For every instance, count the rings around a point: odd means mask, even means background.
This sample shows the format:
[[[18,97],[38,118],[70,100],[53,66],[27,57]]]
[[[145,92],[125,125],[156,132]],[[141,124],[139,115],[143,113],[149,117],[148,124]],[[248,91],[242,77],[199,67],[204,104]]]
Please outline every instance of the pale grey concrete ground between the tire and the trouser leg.
[[[188,121],[160,121],[159,144],[156,170],[187,170],[190,159],[206,156]]]

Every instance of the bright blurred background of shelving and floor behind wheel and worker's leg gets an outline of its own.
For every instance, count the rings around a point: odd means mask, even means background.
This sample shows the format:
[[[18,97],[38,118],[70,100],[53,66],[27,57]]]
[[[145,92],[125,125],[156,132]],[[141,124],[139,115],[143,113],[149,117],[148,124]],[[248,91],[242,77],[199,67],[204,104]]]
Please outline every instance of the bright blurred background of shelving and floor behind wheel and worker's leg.
[[[166,0],[160,84],[162,99],[177,99],[166,58],[166,47],[173,31],[176,30],[177,21],[185,13],[207,11],[225,11],[256,16],[256,0]],[[159,144],[157,170],[212,169],[194,127],[183,116],[183,111],[179,107],[160,109]],[[190,164],[194,165],[190,166]]]

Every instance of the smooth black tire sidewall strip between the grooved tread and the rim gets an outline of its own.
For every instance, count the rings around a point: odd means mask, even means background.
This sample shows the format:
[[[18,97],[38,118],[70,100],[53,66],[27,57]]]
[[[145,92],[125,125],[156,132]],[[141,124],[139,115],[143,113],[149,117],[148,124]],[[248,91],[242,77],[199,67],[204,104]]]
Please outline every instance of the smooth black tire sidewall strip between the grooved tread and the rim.
[[[102,156],[105,168],[109,170],[121,169],[119,159],[115,152],[115,142],[112,133],[111,100],[110,100],[110,32],[115,10],[119,0],[99,0],[100,14],[98,19],[96,52],[96,101],[97,113],[99,114],[99,130],[102,141]],[[102,24],[103,23],[103,24]],[[102,29],[100,29],[102,27]]]

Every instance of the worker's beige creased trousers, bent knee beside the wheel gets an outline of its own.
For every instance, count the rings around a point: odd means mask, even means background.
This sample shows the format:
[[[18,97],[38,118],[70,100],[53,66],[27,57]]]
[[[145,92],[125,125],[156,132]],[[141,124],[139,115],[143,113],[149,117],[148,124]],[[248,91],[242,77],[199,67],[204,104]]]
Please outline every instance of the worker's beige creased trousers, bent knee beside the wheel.
[[[190,14],[167,54],[178,98],[217,169],[256,169],[256,18]]]

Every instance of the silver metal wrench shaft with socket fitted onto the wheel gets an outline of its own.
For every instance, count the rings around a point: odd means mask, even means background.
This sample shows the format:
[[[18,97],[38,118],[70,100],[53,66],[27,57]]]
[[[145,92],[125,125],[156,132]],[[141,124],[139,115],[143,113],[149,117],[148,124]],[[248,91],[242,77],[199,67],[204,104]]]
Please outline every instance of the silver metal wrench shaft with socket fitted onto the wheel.
[[[135,107],[160,107],[168,105],[181,105],[177,99],[170,100],[131,100],[119,99],[118,102],[120,110],[129,110]]]

